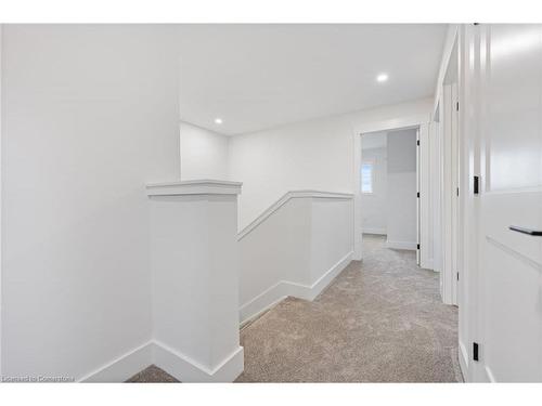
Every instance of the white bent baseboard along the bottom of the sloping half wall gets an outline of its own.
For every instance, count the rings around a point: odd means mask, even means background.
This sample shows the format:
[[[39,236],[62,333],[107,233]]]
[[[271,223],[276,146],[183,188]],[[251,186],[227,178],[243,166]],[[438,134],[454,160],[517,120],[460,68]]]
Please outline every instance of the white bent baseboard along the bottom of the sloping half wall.
[[[241,325],[256,318],[285,297],[291,296],[309,301],[314,300],[314,298],[317,298],[330,285],[330,283],[350,264],[352,257],[353,251],[348,252],[310,286],[288,280],[280,280],[241,306]]]

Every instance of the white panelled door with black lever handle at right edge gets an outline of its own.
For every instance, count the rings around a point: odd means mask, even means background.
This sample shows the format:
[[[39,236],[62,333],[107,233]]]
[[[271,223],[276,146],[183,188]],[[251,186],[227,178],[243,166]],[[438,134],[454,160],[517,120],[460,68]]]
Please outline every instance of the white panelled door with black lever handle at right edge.
[[[542,381],[542,26],[481,25],[476,380]],[[476,197],[475,197],[476,198]]]

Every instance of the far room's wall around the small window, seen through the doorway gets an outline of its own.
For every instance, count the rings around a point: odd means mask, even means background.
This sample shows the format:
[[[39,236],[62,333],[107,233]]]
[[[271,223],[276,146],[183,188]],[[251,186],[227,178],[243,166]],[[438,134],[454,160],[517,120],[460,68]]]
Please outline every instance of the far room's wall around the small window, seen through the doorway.
[[[373,134],[364,134],[362,145]],[[386,140],[386,133],[376,134]],[[387,233],[387,189],[388,168],[387,148],[363,148],[362,162],[373,163],[373,193],[363,194],[363,233],[386,234]]]

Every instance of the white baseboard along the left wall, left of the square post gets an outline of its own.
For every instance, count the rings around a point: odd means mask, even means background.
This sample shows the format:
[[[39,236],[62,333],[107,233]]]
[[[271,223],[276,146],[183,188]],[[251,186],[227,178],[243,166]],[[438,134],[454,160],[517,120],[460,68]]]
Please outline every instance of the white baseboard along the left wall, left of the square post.
[[[153,344],[146,342],[103,367],[80,378],[79,382],[125,382],[153,363]]]

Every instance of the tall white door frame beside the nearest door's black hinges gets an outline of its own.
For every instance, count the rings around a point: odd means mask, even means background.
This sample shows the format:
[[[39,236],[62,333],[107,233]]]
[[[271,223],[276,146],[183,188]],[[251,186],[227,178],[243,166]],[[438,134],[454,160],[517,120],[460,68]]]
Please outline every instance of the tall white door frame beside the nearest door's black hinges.
[[[479,341],[479,199],[474,195],[473,178],[480,173],[479,146],[479,30],[472,24],[461,25],[457,32],[460,103],[459,123],[459,183],[457,208],[457,283],[459,305],[459,358],[463,378],[467,382],[477,380],[477,363],[472,362],[472,343]],[[463,114],[462,112],[469,112]]]

